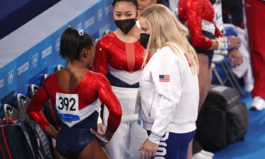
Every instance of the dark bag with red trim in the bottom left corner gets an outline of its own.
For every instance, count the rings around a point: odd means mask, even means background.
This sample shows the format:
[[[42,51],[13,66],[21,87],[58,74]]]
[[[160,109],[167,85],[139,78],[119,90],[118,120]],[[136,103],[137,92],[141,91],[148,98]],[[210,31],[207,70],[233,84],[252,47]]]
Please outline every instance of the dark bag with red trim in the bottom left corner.
[[[52,159],[47,137],[37,123],[28,119],[17,123],[4,119],[1,123],[0,158]]]

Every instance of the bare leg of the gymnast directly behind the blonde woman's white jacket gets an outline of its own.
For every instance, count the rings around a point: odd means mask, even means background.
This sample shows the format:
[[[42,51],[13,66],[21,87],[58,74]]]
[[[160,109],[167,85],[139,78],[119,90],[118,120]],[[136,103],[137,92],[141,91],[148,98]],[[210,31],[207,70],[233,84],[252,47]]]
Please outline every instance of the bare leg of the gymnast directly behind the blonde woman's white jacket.
[[[208,94],[211,87],[212,69],[209,69],[209,60],[206,54],[197,54],[199,59],[199,107],[198,114],[201,110],[201,106]],[[192,159],[192,146],[193,140],[189,143],[187,159]]]

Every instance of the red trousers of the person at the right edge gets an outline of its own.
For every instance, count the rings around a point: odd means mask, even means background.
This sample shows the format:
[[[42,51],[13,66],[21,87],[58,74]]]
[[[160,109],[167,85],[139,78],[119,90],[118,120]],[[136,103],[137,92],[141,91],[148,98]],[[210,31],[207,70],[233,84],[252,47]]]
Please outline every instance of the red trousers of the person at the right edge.
[[[252,96],[265,99],[265,1],[245,0],[245,9],[254,74]]]

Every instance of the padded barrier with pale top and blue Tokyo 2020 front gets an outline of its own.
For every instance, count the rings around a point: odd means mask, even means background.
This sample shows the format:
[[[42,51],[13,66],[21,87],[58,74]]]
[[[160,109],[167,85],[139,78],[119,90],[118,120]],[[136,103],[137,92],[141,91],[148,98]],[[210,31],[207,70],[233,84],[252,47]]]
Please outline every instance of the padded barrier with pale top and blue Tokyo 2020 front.
[[[84,11],[80,10],[82,7],[78,3],[83,3]],[[58,12],[58,5],[61,10],[71,11],[76,16],[70,15],[73,17],[71,20],[67,16],[66,20],[62,21],[61,18],[64,18],[66,13]],[[66,6],[69,8],[65,8]],[[48,11],[55,11],[58,16],[47,13]],[[58,17],[60,18],[58,19]],[[46,18],[46,23],[40,23],[39,21],[42,20],[37,20],[37,18]],[[54,21],[57,23],[53,23]],[[41,26],[35,27],[35,25]],[[68,28],[68,25],[83,29],[94,39],[101,37],[107,29],[116,29],[112,18],[112,1],[60,1],[0,40],[0,114],[2,105],[13,104],[12,95],[17,93],[27,95],[30,84],[40,86],[44,73],[54,73],[58,64],[66,66],[66,61],[59,57],[59,41],[61,33]],[[31,28],[29,29],[28,26]],[[22,33],[25,36],[21,35]],[[33,38],[37,40],[33,40]]]

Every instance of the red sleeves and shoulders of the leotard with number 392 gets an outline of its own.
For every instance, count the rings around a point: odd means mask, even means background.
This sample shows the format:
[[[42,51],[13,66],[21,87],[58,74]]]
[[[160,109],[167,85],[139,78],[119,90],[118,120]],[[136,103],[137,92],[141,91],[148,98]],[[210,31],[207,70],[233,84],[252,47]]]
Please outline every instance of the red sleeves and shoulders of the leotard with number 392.
[[[56,93],[78,94],[79,110],[100,98],[110,111],[107,129],[111,132],[117,130],[122,119],[122,108],[117,97],[112,92],[110,83],[104,76],[99,73],[88,71],[86,76],[73,91],[65,92],[64,90],[61,90],[57,83],[56,73],[50,75],[37,90],[37,93],[34,95],[27,108],[27,113],[30,119],[33,119],[40,124],[42,129],[46,129],[47,126],[49,126],[49,122],[47,122],[47,119],[42,112],[42,107],[44,107],[49,99],[51,99],[52,102],[55,102]]]

